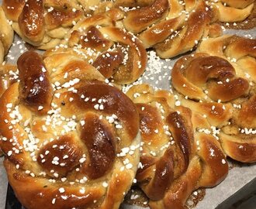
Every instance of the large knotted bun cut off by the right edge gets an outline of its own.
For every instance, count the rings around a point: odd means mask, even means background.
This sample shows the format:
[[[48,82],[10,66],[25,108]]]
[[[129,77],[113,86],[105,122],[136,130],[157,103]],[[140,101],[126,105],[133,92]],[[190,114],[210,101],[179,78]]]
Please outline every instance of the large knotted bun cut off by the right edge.
[[[175,90],[187,98],[182,105],[202,112],[220,128],[217,135],[224,152],[247,163],[256,161],[255,49],[255,39],[206,39],[199,47],[204,53],[178,60],[171,75]]]

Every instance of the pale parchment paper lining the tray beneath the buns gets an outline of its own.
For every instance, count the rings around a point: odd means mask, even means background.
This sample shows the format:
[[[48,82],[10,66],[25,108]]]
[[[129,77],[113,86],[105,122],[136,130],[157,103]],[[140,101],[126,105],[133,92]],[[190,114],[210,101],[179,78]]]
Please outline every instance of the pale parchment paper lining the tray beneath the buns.
[[[2,0],[0,0],[0,4],[2,5]],[[237,34],[247,37],[251,36],[256,38],[256,29],[251,29],[249,31],[227,30],[224,33]],[[6,61],[9,63],[16,63],[16,60],[22,50],[26,51],[26,46],[19,39],[19,37],[16,36],[13,46],[9,51],[9,55],[6,57]],[[177,58],[170,60],[160,60],[158,57],[155,57],[154,51],[149,52],[149,55],[147,70],[144,73],[144,76],[139,79],[139,82],[146,82],[154,85],[155,87],[168,90],[170,87],[170,81],[168,78],[171,74],[171,67],[173,67]],[[0,158],[0,209],[5,208],[5,196],[8,183],[2,161],[3,158]],[[253,180],[255,176],[256,163],[249,165],[244,164],[242,166],[234,167],[232,170],[230,170],[227,178],[217,187],[214,187],[213,189],[206,189],[206,196],[202,201],[199,202],[199,204],[197,204],[195,209],[215,208],[223,200],[226,200],[227,197],[230,197],[230,195],[239,190],[240,187],[243,187],[244,184],[248,183],[250,180]],[[140,207],[123,205],[123,208],[135,209]]]

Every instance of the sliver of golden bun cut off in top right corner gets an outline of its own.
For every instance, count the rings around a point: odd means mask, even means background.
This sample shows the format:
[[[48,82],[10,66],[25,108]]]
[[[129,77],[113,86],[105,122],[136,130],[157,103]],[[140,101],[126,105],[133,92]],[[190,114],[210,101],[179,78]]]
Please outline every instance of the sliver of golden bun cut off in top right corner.
[[[211,0],[220,22],[240,22],[251,15],[254,0]]]

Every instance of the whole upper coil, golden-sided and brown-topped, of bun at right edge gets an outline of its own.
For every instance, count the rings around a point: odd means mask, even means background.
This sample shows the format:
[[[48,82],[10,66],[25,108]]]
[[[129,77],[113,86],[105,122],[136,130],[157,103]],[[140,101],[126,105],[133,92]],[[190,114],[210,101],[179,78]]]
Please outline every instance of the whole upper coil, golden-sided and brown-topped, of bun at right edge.
[[[221,57],[198,53],[178,60],[172,71],[174,87],[189,98],[231,101],[247,94],[249,83],[237,77],[234,67]],[[207,92],[208,91],[208,92]]]

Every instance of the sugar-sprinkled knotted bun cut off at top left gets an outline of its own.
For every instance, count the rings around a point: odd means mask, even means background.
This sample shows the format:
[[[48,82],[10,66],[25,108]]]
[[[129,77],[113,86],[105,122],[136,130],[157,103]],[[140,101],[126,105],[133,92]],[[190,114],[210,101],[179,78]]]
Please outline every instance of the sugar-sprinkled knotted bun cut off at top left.
[[[26,42],[39,49],[60,43],[75,22],[84,16],[78,1],[4,0],[3,9],[12,28]]]

